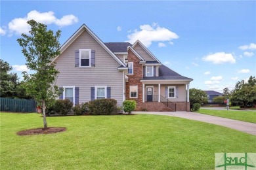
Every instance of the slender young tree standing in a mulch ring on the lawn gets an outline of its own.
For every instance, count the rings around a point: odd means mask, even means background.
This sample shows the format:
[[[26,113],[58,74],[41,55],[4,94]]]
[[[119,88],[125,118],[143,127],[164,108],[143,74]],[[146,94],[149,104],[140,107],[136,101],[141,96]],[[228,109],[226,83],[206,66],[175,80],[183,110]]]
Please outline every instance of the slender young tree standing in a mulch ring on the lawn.
[[[52,30],[47,31],[47,25],[34,20],[28,21],[28,24],[31,26],[30,35],[22,34],[17,41],[26,57],[28,69],[35,73],[24,71],[22,74],[27,92],[43,108],[43,128],[47,129],[45,109],[59,95],[58,87],[54,84],[59,72],[54,68],[52,59],[60,54],[60,30],[54,35]]]

